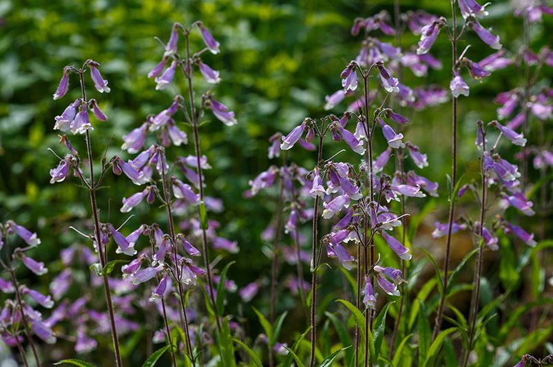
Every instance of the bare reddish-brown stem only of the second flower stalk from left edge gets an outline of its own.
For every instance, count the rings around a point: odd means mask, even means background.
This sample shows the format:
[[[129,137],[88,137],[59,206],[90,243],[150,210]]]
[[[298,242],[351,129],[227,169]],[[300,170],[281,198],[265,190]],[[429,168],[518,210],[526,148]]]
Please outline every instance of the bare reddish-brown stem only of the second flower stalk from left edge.
[[[85,92],[85,80],[83,78],[83,71],[79,72],[79,77],[81,79],[81,92],[83,94],[83,103],[86,104],[86,92]],[[86,108],[86,107],[85,107]],[[100,233],[100,218],[98,216],[98,204],[96,202],[96,185],[94,184],[94,165],[92,161],[92,144],[90,143],[90,130],[86,130],[85,133],[86,140],[86,150],[88,157],[88,166],[90,167],[90,184],[88,185],[88,191],[90,194],[90,205],[92,207],[92,218],[94,220],[94,237],[96,240],[96,245],[98,246],[98,257],[100,258],[100,263],[102,269],[104,269],[105,264],[107,264],[107,250],[103,248],[101,241]],[[114,344],[114,353],[115,353],[115,362],[117,367],[123,366],[121,361],[121,353],[119,352],[119,339],[117,337],[117,329],[115,326],[115,313],[112,304],[112,291],[109,289],[109,282],[107,280],[107,274],[103,274],[104,281],[104,291],[105,299],[107,301],[107,310],[109,311],[109,324],[112,328],[112,340]]]

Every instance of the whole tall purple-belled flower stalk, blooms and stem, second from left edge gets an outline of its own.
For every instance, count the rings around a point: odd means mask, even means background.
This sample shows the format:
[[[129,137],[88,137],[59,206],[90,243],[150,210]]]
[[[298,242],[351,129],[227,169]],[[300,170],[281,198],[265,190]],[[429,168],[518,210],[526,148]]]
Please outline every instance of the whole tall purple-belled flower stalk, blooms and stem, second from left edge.
[[[106,164],[105,157],[102,158],[101,174],[98,180],[96,180],[96,178],[94,177],[94,159],[92,156],[92,142],[90,140],[90,131],[93,130],[94,128],[90,123],[88,114],[89,114],[89,110],[92,110],[96,119],[101,121],[107,120],[107,116],[105,116],[105,114],[102,112],[100,107],[98,107],[98,103],[96,102],[96,100],[87,99],[86,88],[85,88],[85,78],[84,78],[85,72],[88,70],[90,72],[90,76],[92,77],[92,81],[94,82],[94,87],[96,87],[96,90],[98,90],[98,92],[101,92],[101,93],[103,92],[109,93],[110,89],[109,87],[107,87],[107,80],[105,80],[103,76],[101,76],[100,72],[98,71],[99,65],[100,64],[96,63],[96,61],[89,59],[85,61],[85,63],[81,68],[66,66],[63,69],[63,76],[61,78],[59,87],[56,90],[56,93],[54,94],[54,99],[59,99],[63,97],[67,93],[67,90],[69,87],[70,73],[75,73],[79,75],[79,81],[81,85],[81,98],[77,98],[73,103],[71,103],[65,109],[63,114],[61,114],[61,116],[56,116],[56,124],[54,125],[54,129],[59,129],[62,132],[70,131],[72,132],[72,134],[85,135],[85,143],[86,143],[86,149],[87,149],[87,162],[89,165],[90,176],[89,178],[85,178],[83,171],[81,169],[81,160],[79,158],[79,154],[72,147],[70,140],[64,135],[62,136],[60,143],[62,145],[65,145],[65,147],[70,151],[70,154],[67,154],[67,156],[65,156],[65,158],[61,160],[58,167],[50,170],[50,176],[52,176],[52,180],[50,182],[54,183],[54,182],[61,182],[65,180],[65,178],[70,175],[72,170],[74,172],[74,176],[77,176],[83,183],[83,186],[86,187],[86,189],[88,190],[89,196],[90,196],[90,204],[92,207],[92,220],[94,222],[94,233],[90,235],[90,240],[92,240],[94,244],[94,249],[98,252],[98,258],[100,260],[100,263],[98,265],[101,266],[99,269],[103,270],[103,269],[106,269],[106,264],[108,262],[107,243],[109,242],[109,239],[107,238],[106,234],[102,233],[103,226],[101,225],[99,214],[98,214],[96,190],[98,190],[98,188],[101,187],[104,174],[109,169],[109,167],[111,167],[111,164]],[[109,322],[112,330],[112,340],[114,344],[115,361],[116,361],[116,365],[119,367],[119,366],[122,366],[121,353],[119,351],[119,342],[117,337],[114,307],[112,304],[112,295],[109,289],[109,282],[107,278],[108,274],[106,271],[99,271],[98,274],[101,274],[101,276],[103,277],[105,297],[107,301],[107,309],[109,311]]]

